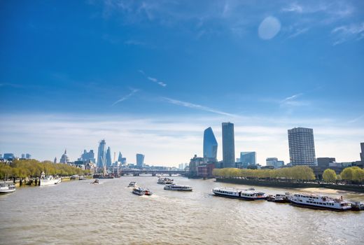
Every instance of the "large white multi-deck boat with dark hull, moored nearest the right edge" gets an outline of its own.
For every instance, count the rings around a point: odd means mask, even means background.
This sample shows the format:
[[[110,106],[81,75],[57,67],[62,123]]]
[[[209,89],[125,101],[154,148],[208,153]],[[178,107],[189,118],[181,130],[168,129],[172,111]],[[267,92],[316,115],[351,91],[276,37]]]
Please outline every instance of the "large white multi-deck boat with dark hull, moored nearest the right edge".
[[[340,198],[332,198],[323,195],[307,193],[295,193],[289,197],[290,203],[298,207],[308,207],[311,209],[331,209],[336,211],[346,211],[351,209],[351,202]]]

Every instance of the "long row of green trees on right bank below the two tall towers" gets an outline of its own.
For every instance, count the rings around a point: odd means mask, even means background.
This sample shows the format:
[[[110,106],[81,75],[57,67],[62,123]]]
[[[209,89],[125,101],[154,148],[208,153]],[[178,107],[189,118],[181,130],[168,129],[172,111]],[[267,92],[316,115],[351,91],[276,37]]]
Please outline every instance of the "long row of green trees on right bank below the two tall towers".
[[[247,179],[288,179],[310,181],[315,179],[314,171],[307,166],[285,167],[281,169],[214,169],[212,174],[224,178]]]

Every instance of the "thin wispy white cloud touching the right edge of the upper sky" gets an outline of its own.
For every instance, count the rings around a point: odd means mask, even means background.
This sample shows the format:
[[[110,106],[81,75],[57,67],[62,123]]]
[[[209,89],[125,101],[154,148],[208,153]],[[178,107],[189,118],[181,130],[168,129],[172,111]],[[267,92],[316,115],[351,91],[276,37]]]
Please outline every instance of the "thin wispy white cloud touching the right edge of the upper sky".
[[[335,29],[332,29],[331,34],[335,35],[336,38],[333,45],[344,43],[353,39],[360,40],[364,38],[364,22],[336,27]]]

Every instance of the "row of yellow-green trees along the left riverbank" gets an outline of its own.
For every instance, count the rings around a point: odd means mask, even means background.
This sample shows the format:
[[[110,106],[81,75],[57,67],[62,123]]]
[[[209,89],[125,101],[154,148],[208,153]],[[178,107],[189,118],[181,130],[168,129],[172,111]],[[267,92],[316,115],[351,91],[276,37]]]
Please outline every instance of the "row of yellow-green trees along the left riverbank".
[[[12,177],[20,179],[27,177],[40,177],[42,172],[44,172],[45,175],[58,176],[90,174],[90,170],[83,170],[78,167],[61,163],[55,164],[49,161],[39,162],[37,160],[14,160],[10,163],[10,165],[0,163],[0,179]]]

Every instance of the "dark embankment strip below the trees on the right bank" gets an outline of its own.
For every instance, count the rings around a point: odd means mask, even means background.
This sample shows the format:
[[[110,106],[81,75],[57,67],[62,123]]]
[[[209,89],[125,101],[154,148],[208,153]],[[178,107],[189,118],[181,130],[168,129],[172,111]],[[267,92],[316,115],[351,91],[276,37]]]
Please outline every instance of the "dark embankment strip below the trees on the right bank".
[[[326,188],[334,190],[354,191],[357,193],[364,193],[363,186],[354,185],[335,185],[328,183],[304,183],[304,182],[288,182],[288,181],[265,181],[256,179],[236,179],[236,178],[216,178],[217,182],[223,183],[238,183],[248,186],[267,186],[278,188]]]

